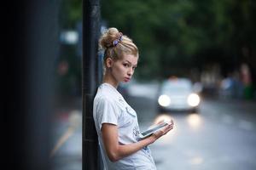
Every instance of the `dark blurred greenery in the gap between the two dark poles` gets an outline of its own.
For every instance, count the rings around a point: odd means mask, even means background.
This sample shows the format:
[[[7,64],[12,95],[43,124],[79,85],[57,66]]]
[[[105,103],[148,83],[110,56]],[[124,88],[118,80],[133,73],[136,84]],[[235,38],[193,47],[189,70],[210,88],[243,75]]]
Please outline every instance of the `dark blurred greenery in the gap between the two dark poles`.
[[[59,13],[60,31],[78,31],[82,20],[82,0],[61,0]],[[61,32],[60,32],[61,34]],[[62,97],[80,95],[81,58],[77,53],[78,44],[61,43],[56,59],[56,95]]]

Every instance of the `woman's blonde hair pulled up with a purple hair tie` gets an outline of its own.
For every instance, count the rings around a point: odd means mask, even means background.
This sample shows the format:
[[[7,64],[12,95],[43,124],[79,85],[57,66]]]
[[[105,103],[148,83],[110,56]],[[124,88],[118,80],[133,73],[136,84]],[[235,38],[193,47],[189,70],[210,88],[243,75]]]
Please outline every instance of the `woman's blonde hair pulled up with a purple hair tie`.
[[[105,50],[104,53],[104,66],[106,60],[112,58],[113,60],[122,59],[124,54],[132,54],[138,57],[137,46],[132,42],[131,38],[123,35],[116,28],[108,28],[102,34],[99,40],[99,47]]]

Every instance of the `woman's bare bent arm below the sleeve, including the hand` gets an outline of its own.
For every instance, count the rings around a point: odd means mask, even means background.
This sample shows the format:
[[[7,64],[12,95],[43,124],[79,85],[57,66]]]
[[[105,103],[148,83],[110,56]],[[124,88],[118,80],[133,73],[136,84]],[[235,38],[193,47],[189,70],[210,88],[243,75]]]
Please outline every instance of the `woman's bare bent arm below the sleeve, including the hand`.
[[[142,139],[137,143],[121,145],[118,141],[118,127],[113,124],[103,123],[102,124],[102,139],[105,150],[107,152],[110,161],[119,161],[125,156],[141,150],[148,144],[154,143],[156,139],[159,139],[162,135],[166,134],[173,128],[173,125],[166,126],[160,132],[154,133],[146,139]]]

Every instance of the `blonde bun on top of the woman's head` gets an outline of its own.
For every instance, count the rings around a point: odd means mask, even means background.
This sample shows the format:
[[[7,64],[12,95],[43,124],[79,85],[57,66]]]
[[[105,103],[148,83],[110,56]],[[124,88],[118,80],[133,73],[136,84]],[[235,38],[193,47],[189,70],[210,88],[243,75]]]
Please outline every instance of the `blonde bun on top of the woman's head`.
[[[101,39],[99,40],[100,48],[106,49],[113,47],[113,41],[119,39],[122,34],[116,28],[108,28],[106,32],[103,33]]]

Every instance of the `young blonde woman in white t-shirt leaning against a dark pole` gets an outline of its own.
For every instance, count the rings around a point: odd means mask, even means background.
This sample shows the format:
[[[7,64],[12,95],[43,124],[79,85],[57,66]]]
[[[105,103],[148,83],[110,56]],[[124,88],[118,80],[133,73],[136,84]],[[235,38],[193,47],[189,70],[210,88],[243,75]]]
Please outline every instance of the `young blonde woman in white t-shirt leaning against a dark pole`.
[[[117,91],[119,82],[129,82],[137,67],[137,46],[116,28],[109,28],[99,42],[105,50],[105,71],[94,99],[93,116],[104,167],[109,170],[154,170],[148,144],[168,133],[173,123],[146,139],[138,139],[137,113]]]

